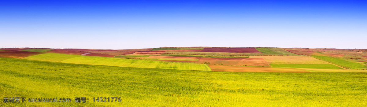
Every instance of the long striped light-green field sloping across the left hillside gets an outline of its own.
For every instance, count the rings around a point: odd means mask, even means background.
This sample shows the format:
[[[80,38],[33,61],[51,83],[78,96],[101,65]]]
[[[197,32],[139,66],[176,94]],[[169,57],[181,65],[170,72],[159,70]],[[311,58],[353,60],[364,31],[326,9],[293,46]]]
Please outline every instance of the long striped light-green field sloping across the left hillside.
[[[182,62],[164,62],[155,60],[109,58],[99,56],[68,55],[61,53],[44,53],[34,56],[28,56],[23,59],[41,60],[50,62],[92,64],[120,67],[138,67],[138,68],[156,68],[156,69],[177,69],[177,70],[203,70],[210,71],[206,64],[182,63]]]

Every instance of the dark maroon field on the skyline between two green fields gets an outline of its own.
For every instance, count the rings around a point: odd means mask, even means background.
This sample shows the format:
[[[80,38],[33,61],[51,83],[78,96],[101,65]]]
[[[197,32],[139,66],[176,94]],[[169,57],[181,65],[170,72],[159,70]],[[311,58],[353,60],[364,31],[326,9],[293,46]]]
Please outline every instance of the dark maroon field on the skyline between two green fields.
[[[255,48],[204,48],[200,52],[261,53]]]

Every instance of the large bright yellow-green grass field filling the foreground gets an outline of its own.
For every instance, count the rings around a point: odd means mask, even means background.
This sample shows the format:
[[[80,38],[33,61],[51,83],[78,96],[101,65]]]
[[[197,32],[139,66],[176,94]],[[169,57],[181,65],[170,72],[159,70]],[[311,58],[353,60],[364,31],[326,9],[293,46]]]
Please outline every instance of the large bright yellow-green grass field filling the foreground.
[[[367,73],[246,73],[146,69],[0,58],[3,97],[70,98],[69,103],[1,107],[365,107]],[[87,103],[75,103],[86,97]],[[93,102],[121,97],[121,102]]]

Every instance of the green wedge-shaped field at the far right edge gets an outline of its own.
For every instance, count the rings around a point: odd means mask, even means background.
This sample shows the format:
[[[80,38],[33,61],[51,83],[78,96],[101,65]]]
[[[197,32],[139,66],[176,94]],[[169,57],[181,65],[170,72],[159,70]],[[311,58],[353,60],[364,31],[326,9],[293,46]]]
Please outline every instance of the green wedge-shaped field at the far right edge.
[[[342,66],[345,68],[350,68],[350,69],[367,68],[366,65],[355,63],[355,62],[349,62],[349,61],[339,59],[339,58],[333,58],[333,57],[328,57],[328,56],[315,56],[315,55],[312,55],[312,57],[316,59],[324,60],[329,63],[336,64],[338,66]]]

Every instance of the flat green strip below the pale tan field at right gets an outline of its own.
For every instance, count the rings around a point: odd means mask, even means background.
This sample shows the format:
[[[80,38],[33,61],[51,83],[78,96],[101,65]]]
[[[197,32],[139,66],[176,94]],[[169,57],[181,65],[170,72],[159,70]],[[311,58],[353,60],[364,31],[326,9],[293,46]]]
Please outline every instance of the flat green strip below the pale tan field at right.
[[[308,69],[342,69],[334,64],[270,64],[270,66]]]

